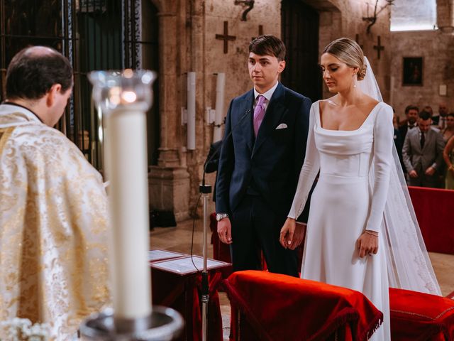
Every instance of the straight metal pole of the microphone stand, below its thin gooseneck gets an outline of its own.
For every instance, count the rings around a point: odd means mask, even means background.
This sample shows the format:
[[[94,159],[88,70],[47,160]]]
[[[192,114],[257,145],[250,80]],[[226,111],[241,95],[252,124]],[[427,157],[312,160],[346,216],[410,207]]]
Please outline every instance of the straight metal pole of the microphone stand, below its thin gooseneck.
[[[203,255],[204,255],[204,270],[201,273],[201,340],[206,341],[206,335],[208,330],[206,329],[206,321],[208,318],[208,301],[209,301],[209,283],[208,283],[208,271],[206,269],[206,235],[208,234],[208,198],[211,193],[211,186],[205,185],[204,183],[199,186],[199,191],[204,197],[204,241],[203,241]]]

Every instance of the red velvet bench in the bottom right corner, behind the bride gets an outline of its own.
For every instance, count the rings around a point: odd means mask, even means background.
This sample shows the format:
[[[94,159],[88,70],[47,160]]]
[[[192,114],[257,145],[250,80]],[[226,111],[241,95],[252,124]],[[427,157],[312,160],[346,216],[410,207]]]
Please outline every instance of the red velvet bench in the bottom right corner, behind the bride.
[[[454,340],[454,301],[389,288],[392,341]]]

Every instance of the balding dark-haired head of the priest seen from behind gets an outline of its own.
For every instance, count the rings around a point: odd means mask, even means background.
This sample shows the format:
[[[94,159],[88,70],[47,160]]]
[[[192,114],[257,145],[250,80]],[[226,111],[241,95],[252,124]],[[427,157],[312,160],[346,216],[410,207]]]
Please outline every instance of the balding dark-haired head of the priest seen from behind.
[[[45,46],[24,48],[6,70],[6,102],[19,104],[54,126],[65,112],[72,92],[71,63]]]

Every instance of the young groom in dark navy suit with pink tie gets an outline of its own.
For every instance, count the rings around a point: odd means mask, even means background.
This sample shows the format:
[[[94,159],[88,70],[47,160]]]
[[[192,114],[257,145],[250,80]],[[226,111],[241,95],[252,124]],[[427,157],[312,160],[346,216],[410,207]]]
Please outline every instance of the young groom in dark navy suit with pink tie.
[[[216,183],[216,220],[231,244],[234,271],[260,269],[260,250],[271,272],[298,276],[302,226],[289,249],[279,232],[292,206],[304,161],[311,100],[278,82],[285,46],[275,36],[249,45],[254,88],[232,100]],[[309,202],[309,201],[308,201]],[[306,222],[309,207],[300,219]]]

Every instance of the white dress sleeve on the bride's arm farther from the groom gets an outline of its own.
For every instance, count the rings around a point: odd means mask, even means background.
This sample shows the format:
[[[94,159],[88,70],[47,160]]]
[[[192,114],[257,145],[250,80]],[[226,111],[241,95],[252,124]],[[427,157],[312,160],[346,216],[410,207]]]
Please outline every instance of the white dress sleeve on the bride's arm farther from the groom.
[[[383,106],[377,112],[374,125],[374,185],[372,189],[372,202],[370,213],[367,219],[366,229],[370,231],[380,231],[382,224],[384,205],[386,204],[389,175],[391,173],[392,144],[394,143],[392,129],[392,108]]]

